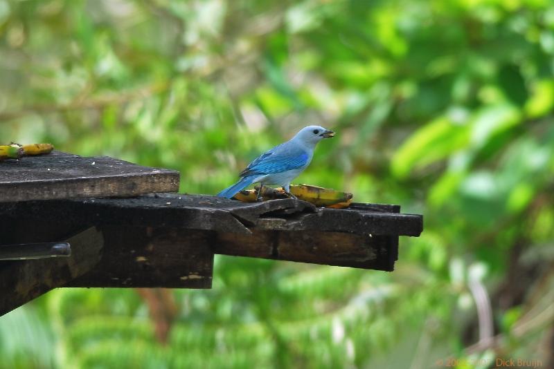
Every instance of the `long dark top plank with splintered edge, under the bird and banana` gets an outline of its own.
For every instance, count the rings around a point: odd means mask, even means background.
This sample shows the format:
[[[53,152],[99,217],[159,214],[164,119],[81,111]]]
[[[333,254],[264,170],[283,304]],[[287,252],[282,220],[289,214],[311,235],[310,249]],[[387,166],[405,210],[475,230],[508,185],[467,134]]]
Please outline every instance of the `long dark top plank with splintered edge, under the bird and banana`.
[[[422,216],[384,212],[387,209],[399,211],[393,205],[368,204],[357,205],[353,209],[322,209],[294,199],[244,203],[213,196],[161,193],[121,199],[6,203],[0,207],[0,216],[30,219],[56,212],[88,225],[175,227],[240,234],[250,234],[254,229],[261,229],[420,235]]]

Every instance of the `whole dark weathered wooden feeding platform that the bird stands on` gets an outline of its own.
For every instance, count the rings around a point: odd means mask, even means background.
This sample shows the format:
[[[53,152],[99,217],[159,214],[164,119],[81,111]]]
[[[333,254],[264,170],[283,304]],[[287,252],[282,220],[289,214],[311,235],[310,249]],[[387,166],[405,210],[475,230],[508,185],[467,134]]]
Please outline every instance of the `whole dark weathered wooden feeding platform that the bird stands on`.
[[[214,254],[390,272],[399,236],[422,231],[422,216],[398,205],[244,203],[178,189],[177,171],[108,157],[0,162],[0,314],[56,287],[210,288]]]

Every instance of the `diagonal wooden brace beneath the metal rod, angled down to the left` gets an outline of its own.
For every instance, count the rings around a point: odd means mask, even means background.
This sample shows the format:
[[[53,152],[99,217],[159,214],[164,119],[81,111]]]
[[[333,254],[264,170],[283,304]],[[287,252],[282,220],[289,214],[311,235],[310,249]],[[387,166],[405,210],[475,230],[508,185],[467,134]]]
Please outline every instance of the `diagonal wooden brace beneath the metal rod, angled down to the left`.
[[[102,234],[87,229],[67,240],[72,255],[67,258],[44,258],[26,261],[3,261],[0,264],[0,315],[92,269],[100,261]]]

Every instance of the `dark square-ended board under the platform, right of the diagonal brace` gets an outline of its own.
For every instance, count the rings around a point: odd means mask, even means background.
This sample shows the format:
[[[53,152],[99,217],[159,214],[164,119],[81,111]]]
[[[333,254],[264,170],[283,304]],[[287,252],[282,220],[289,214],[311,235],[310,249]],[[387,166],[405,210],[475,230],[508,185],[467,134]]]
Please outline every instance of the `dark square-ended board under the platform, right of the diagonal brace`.
[[[153,227],[100,227],[98,265],[65,287],[211,288],[210,232]]]

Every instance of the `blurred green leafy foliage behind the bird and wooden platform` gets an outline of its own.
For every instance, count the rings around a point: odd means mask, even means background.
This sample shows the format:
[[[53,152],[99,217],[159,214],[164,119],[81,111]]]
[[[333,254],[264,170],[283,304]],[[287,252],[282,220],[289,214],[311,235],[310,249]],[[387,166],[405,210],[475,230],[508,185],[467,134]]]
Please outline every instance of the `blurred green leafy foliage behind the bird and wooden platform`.
[[[217,258],[166,346],[133,290],[53,291],[0,318],[0,367],[554,367],[553,57],[548,0],[0,0],[0,141],[216,193],[321,124],[299,183],[425,215],[390,274]]]

